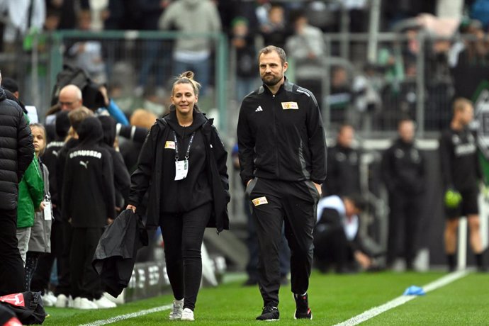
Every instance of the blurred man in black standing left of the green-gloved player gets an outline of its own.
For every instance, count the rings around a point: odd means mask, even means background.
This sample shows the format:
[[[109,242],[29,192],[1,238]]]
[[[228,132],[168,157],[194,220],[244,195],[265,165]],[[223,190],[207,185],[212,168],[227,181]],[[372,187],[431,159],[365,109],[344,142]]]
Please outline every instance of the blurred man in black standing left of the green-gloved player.
[[[425,189],[425,159],[414,142],[415,124],[409,118],[398,123],[399,138],[383,153],[382,174],[389,193],[387,266],[404,248],[406,269],[412,269],[417,248],[421,195]],[[404,246],[399,240],[404,239]]]

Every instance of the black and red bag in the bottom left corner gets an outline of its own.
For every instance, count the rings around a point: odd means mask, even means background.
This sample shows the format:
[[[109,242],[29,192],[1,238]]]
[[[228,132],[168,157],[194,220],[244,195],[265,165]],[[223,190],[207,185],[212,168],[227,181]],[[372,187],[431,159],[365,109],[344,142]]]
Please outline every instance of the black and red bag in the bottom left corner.
[[[0,305],[13,311],[23,325],[42,324],[46,318],[40,292],[28,291],[1,296]]]

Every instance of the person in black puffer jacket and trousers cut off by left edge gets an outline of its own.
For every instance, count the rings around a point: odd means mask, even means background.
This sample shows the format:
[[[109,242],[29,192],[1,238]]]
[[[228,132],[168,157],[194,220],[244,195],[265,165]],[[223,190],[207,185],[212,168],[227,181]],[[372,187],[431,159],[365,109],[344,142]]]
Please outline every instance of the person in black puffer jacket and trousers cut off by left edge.
[[[1,74],[0,74],[1,81]],[[24,290],[17,247],[18,181],[34,157],[33,137],[22,108],[0,87],[0,296]]]

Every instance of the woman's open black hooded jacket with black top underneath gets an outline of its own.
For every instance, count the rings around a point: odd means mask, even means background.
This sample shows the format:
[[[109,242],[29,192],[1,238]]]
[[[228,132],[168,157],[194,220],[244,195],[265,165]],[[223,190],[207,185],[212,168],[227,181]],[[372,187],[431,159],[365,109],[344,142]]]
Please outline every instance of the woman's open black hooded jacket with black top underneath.
[[[229,228],[227,152],[212,123],[212,119],[194,111],[193,124],[181,128],[171,107],[170,113],[152,126],[142,146],[137,169],[131,176],[128,201],[139,207],[146,191],[150,191],[147,227],[157,227],[162,212],[183,213],[212,201],[213,215],[208,227],[216,227],[218,232]],[[174,133],[181,160],[194,131],[189,174],[185,179],[175,181]]]

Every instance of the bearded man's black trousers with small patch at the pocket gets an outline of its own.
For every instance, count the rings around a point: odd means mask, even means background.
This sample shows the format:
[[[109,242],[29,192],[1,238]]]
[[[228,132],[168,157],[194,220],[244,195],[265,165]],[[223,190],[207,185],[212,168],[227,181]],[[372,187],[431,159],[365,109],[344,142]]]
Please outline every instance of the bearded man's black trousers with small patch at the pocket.
[[[264,306],[279,305],[281,230],[291,248],[291,290],[308,291],[319,200],[312,181],[253,179],[247,187],[257,225],[259,288]]]

